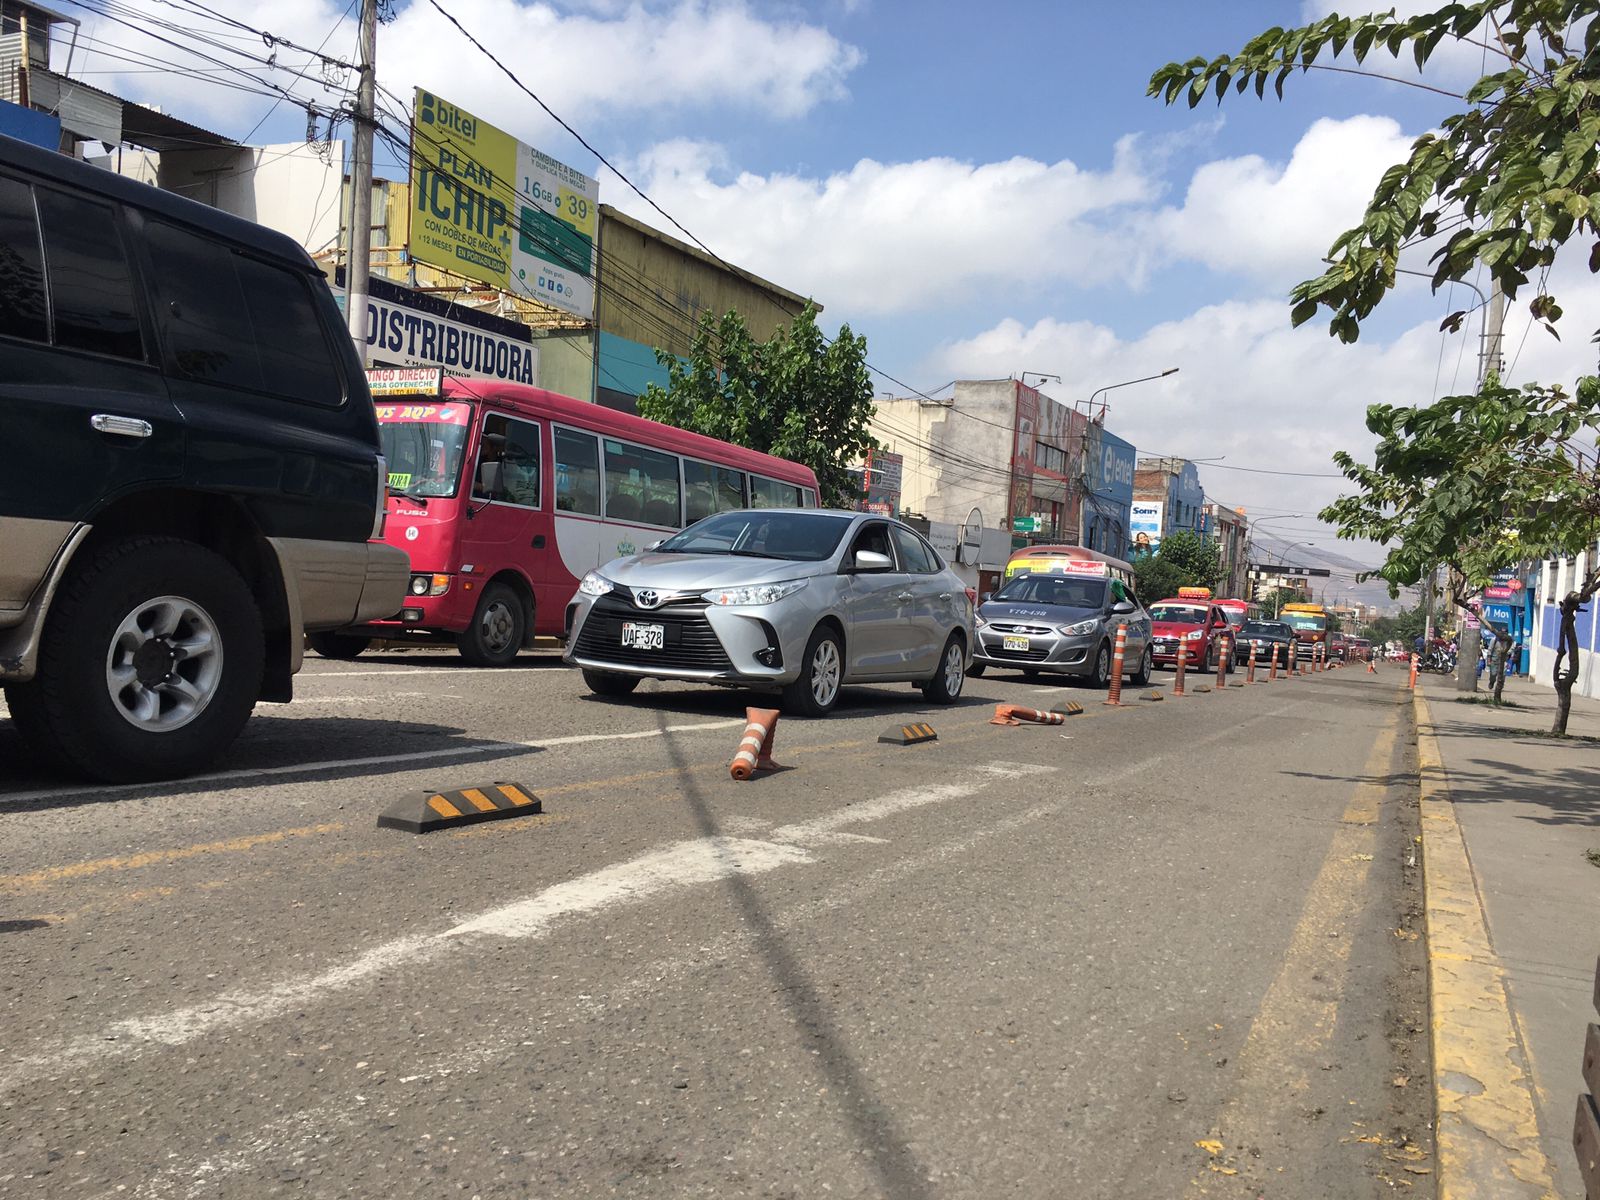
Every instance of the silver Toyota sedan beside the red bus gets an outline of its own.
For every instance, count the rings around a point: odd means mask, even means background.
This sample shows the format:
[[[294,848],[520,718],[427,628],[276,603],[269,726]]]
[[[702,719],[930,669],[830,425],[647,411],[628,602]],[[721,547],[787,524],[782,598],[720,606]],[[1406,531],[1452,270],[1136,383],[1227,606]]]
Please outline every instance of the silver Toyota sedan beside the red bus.
[[[915,531],[872,514],[738,509],[584,576],[566,661],[590,691],[642,678],[774,688],[826,715],[846,683],[962,694],[973,602]]]

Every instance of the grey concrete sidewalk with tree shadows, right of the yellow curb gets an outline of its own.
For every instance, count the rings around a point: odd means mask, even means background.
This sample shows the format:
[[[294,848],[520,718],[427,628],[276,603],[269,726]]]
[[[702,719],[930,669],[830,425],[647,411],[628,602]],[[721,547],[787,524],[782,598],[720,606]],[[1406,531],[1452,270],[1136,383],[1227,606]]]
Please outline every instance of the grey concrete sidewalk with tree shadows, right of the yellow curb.
[[[1547,686],[1507,680],[1504,698],[1517,706],[1507,709],[1458,702],[1472,693],[1456,691],[1448,677],[1424,675],[1419,690],[1426,699],[1419,723],[1434,726],[1448,784],[1443,821],[1453,814],[1459,826],[1462,866],[1470,872],[1467,902],[1475,890],[1490,958],[1498,958],[1504,971],[1510,1032],[1522,1043],[1522,1054],[1514,1058],[1525,1056],[1531,1069],[1533,1110],[1549,1174],[1557,1195],[1582,1200],[1571,1130],[1576,1098],[1584,1090],[1584,1032],[1587,1022],[1600,1019],[1592,1000],[1600,955],[1600,867],[1587,858],[1589,851],[1600,854],[1600,701],[1574,696],[1566,725],[1573,739],[1557,741],[1534,736],[1550,728],[1555,714],[1555,693]],[[1424,821],[1424,838],[1437,837],[1429,829]],[[1430,909],[1434,904],[1430,888]],[[1450,947],[1430,946],[1429,952],[1430,958],[1456,957]],[[1450,1000],[1443,997],[1442,1003],[1437,963],[1434,971],[1435,1046],[1462,1056],[1458,1062],[1474,1062],[1482,1054],[1475,1034],[1458,1032],[1454,1045],[1448,1043]],[[1482,1066],[1494,1072],[1491,1062]],[[1435,1078],[1440,1070],[1448,1083],[1448,1064],[1435,1064]],[[1517,1074],[1517,1083],[1525,1086]],[[1442,1126],[1446,1093],[1448,1086],[1440,1091]]]

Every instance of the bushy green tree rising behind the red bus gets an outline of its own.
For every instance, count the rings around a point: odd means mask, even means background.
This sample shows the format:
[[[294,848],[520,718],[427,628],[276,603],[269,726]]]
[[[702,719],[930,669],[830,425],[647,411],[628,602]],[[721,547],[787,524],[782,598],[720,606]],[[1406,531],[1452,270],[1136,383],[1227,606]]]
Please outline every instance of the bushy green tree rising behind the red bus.
[[[750,336],[744,318],[701,317],[688,362],[656,350],[667,386],[651,384],[638,413],[678,429],[802,462],[816,472],[824,506],[851,506],[861,491],[850,467],[877,442],[867,339],[845,325],[829,342],[816,306],[768,341]]]

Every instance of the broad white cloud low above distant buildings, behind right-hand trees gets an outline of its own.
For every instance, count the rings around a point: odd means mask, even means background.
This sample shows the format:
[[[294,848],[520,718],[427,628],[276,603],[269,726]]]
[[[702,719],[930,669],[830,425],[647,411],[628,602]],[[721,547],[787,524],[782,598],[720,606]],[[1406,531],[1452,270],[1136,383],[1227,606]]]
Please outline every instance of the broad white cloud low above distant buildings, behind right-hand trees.
[[[1523,339],[1525,306],[1507,315],[1506,362],[1515,360],[1512,382],[1562,381],[1570,387],[1578,374],[1595,370],[1587,338],[1600,323],[1600,282],[1563,280],[1560,296],[1570,314],[1560,342],[1538,328]],[[1107,427],[1133,442],[1141,454],[1194,459],[1222,454],[1222,466],[1200,469],[1213,499],[1261,514],[1306,514],[1306,520],[1293,525],[1310,526],[1322,506],[1349,490],[1342,478],[1258,475],[1226,467],[1336,475],[1334,450],[1371,461],[1366,406],[1429,403],[1437,395],[1435,384],[1438,392],[1448,392],[1462,346],[1456,390],[1474,386],[1475,323],[1448,338],[1438,333],[1437,322],[1397,331],[1387,341],[1382,333],[1381,323],[1373,322],[1358,342],[1344,346],[1326,334],[1326,326],[1291,330],[1282,299],[1238,301],[1205,306],[1138,338],[1122,338],[1094,322],[1002,320],[938,349],[920,370],[925,378],[938,379],[1005,378],[1021,366],[1048,371],[1061,374],[1062,384],[1045,384],[1045,390],[1072,403],[1088,400],[1107,384],[1178,366],[1174,376],[1102,397],[1109,402]]]

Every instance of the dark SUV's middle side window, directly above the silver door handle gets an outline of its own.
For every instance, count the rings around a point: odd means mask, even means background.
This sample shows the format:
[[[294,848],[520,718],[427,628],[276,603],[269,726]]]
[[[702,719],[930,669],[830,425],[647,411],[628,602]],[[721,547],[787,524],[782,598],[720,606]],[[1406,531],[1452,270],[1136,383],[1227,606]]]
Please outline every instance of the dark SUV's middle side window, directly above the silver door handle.
[[[69,350],[144,358],[133,270],[117,210],[38,189],[54,342]]]

